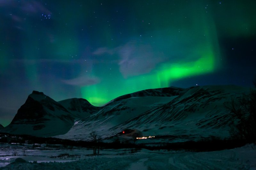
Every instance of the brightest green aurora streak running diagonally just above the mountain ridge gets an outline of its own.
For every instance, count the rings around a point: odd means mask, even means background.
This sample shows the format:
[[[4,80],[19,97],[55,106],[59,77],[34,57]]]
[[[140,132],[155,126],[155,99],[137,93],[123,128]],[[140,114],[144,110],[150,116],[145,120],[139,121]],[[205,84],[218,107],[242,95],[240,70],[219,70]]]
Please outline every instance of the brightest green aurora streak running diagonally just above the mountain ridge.
[[[150,88],[168,87],[171,81],[189,76],[202,75],[214,71],[215,58],[212,51],[195,62],[166,63],[159,68],[158,73],[146,74],[124,79],[118,86],[105,87],[104,83],[82,87],[81,92],[95,106],[100,106],[118,96]]]

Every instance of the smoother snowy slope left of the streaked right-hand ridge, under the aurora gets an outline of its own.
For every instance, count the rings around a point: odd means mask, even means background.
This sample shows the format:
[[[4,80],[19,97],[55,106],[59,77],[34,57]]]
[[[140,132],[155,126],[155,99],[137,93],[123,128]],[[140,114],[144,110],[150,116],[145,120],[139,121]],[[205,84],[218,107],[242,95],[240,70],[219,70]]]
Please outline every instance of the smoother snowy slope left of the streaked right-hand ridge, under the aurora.
[[[67,134],[57,137],[75,140],[92,140],[90,133],[93,131],[96,131],[101,138],[113,136],[125,129],[125,127],[113,129],[116,125],[125,123],[127,120],[145,113],[152,108],[168,103],[175,97],[131,97],[113,101],[91,116],[76,121]]]

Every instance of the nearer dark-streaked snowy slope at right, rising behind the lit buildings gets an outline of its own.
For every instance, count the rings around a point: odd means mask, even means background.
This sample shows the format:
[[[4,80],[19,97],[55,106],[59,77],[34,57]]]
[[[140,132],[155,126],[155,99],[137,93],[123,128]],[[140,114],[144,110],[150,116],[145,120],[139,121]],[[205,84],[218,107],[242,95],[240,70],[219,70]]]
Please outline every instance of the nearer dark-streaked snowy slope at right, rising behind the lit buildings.
[[[236,86],[193,87],[174,100],[114,128],[135,128],[144,135],[174,136],[174,140],[229,137],[232,116],[224,103],[246,89]]]

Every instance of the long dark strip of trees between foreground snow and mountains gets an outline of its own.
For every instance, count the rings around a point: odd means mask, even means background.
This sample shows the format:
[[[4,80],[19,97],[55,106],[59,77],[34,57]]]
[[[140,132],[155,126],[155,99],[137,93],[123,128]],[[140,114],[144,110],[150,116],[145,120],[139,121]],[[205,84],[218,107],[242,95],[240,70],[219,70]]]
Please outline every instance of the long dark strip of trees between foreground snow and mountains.
[[[59,139],[53,137],[34,137],[28,135],[11,135],[0,134],[1,143],[20,143],[20,144],[44,144],[46,145],[63,145],[63,147],[83,147],[83,148],[100,148],[100,149],[123,149],[123,148],[136,148],[148,150],[184,150],[191,152],[203,151],[218,151],[224,149],[232,149],[241,147],[246,144],[243,139],[205,139],[200,141],[186,141],[176,143],[161,143],[161,144],[135,144],[135,143],[121,143],[121,142],[87,142],[87,141],[73,141],[68,139]]]

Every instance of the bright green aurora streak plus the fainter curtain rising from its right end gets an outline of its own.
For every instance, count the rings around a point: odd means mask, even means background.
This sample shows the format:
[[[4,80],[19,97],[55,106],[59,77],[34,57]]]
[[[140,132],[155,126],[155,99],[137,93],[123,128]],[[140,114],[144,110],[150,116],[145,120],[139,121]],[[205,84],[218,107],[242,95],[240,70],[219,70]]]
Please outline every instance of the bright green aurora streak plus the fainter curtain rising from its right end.
[[[199,14],[196,12],[196,14],[197,15],[195,17],[197,17],[197,19],[194,21],[194,25],[191,26],[189,30],[184,30],[184,35],[173,35],[171,30],[169,31],[170,35],[168,36],[169,39],[176,37],[178,41],[191,41],[195,43],[193,48],[186,52],[188,55],[187,58],[195,58],[194,56],[196,56],[194,61],[193,59],[185,61],[184,58],[181,58],[181,60],[177,62],[161,63],[150,73],[132,76],[126,79],[121,75],[119,75],[119,77],[117,75],[118,79],[105,79],[105,81],[103,80],[99,84],[82,87],[82,97],[95,106],[101,106],[124,94],[151,88],[169,87],[173,81],[192,76],[204,75],[219,69],[221,67],[221,55],[215,23],[209,16],[200,16],[200,12]],[[203,28],[203,31],[198,29],[200,26]],[[201,38],[203,34],[204,36]],[[200,40],[198,40],[198,37],[200,37]],[[163,42],[162,39],[159,39],[158,41],[159,42],[157,43],[163,46],[172,44],[171,40],[165,40]],[[173,48],[170,47],[169,50],[171,51]],[[186,49],[182,49],[182,47],[178,47],[178,50],[187,51]],[[166,53],[171,55],[171,52]],[[108,85],[109,81],[112,83]]]

